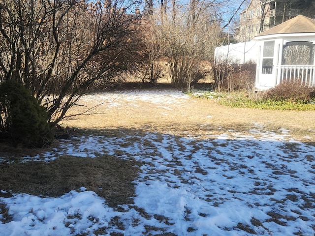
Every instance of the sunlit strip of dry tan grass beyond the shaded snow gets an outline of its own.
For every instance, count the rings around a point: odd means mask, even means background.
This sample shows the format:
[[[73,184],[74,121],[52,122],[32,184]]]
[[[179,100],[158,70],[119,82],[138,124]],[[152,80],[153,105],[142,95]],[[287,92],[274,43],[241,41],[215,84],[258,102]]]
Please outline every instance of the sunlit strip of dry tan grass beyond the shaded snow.
[[[136,104],[136,106],[134,105]],[[85,103],[87,107],[76,107],[72,112],[92,107],[93,102]],[[168,104],[171,110],[153,104],[150,101],[125,102],[124,105],[108,107],[100,105],[99,114],[83,115],[63,121],[64,126],[78,129],[95,130],[132,130],[156,131],[175,135],[207,136],[235,132],[248,134],[257,125],[265,131],[281,132],[290,130],[296,139],[310,141],[314,138],[315,111],[273,111],[247,108],[231,108],[220,105],[213,99],[191,98],[181,104]]]

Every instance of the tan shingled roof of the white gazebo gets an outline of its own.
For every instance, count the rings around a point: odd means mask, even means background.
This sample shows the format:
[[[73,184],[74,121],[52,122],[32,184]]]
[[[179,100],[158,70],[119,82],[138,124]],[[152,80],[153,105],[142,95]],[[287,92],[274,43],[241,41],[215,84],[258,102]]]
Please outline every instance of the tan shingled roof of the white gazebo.
[[[271,29],[263,31],[256,36],[265,36],[279,33],[314,33],[315,32],[315,20],[298,15],[284,23],[275,26]]]

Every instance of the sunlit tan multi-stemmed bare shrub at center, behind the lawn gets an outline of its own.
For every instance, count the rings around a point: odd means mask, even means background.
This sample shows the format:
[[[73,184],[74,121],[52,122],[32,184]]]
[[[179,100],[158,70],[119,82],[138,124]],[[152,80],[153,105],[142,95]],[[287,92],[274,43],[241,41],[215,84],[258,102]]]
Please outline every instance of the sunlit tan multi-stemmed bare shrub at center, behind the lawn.
[[[189,90],[191,84],[204,75],[202,63],[206,59],[205,47],[212,31],[206,12],[192,23],[187,10],[189,8],[177,11],[175,18],[173,12],[158,16],[153,26],[158,45],[169,66],[172,85],[177,88],[187,86]],[[160,20],[160,17],[163,19]],[[158,22],[163,24],[159,25]]]

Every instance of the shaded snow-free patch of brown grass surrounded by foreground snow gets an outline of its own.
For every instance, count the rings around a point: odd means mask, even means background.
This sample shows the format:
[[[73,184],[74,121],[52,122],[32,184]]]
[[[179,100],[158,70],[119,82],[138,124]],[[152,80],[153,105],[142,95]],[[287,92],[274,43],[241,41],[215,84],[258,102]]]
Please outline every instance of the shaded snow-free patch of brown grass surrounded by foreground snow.
[[[49,163],[13,162],[0,165],[0,189],[14,193],[58,197],[81,186],[106,199],[109,206],[132,204],[139,165],[103,155],[95,158],[63,156]],[[8,196],[1,196],[8,197]]]

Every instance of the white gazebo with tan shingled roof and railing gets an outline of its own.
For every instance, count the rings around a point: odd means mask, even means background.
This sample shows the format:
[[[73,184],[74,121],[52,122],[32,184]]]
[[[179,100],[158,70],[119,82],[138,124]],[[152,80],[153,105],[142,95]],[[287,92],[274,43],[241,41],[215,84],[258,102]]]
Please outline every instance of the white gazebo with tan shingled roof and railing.
[[[258,34],[255,40],[259,45],[257,90],[284,82],[315,86],[315,20],[298,15]]]

